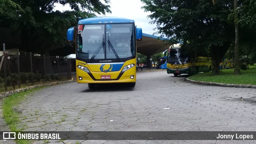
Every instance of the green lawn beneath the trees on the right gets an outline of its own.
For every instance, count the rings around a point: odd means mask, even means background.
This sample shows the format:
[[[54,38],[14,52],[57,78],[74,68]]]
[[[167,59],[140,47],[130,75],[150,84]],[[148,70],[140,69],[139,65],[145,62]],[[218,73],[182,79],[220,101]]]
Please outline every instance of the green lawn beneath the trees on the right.
[[[249,65],[248,70],[241,70],[240,75],[234,75],[234,68],[220,70],[220,75],[212,72],[199,73],[189,77],[190,80],[203,82],[218,82],[223,84],[251,84],[256,85],[256,64]]]

